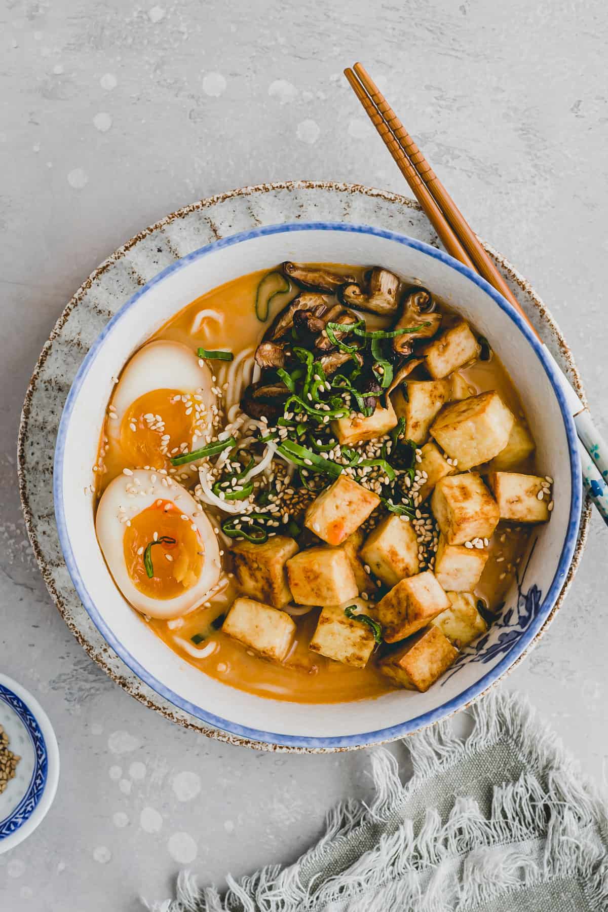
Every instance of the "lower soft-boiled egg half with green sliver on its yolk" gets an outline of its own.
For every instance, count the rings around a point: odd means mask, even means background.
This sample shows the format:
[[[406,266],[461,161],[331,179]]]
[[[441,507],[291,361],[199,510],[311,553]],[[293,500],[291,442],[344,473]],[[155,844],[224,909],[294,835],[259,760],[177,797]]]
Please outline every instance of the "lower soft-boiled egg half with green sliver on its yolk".
[[[134,608],[149,617],[180,617],[220,578],[218,540],[201,505],[178,482],[161,472],[126,472],[99,501],[99,545]]]

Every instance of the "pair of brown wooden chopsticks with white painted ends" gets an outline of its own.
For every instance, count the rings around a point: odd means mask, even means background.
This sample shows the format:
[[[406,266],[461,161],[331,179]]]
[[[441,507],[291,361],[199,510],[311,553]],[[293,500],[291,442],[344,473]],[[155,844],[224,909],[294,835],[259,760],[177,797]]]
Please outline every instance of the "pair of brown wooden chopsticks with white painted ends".
[[[509,285],[505,282],[496,265],[489,258],[477,234],[465,220],[462,212],[452,200],[446,188],[439,181],[428,161],[418,149],[414,140],[397,118],[397,114],[387,103],[374,80],[360,63],[345,69],[345,77],[353,88],[366,114],[371,119],[384,141],[386,148],[397,162],[397,168],[405,177],[416,196],[428,221],[438,233],[439,240],[448,254],[460,263],[469,266],[482,275],[489,285],[493,285],[500,295],[515,307],[520,316],[530,326],[534,335],[541,338],[521,306]],[[593,425],[589,409],[579,399],[571,384],[565,378],[551,352],[544,348],[553,367],[561,380],[562,390],[579,436],[579,455],[582,466],[582,483],[593,503],[608,524],[608,443]]]

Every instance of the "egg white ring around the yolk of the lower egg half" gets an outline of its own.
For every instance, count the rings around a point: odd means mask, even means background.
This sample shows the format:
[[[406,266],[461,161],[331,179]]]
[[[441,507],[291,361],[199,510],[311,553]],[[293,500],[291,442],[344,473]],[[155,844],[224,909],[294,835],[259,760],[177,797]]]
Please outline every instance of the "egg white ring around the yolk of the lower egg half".
[[[132,519],[159,499],[174,503],[180,513],[191,518],[199,532],[204,551],[201,575],[194,586],[185,590],[181,596],[167,599],[151,598],[139,591],[129,576],[123,550],[126,520]],[[210,520],[201,512],[201,504],[184,487],[161,472],[136,469],[131,475],[119,475],[110,482],[99,501],[95,528],[99,546],[116,585],[127,601],[144,615],[161,619],[180,617],[192,607],[200,605],[203,596],[220,578],[220,545]]]

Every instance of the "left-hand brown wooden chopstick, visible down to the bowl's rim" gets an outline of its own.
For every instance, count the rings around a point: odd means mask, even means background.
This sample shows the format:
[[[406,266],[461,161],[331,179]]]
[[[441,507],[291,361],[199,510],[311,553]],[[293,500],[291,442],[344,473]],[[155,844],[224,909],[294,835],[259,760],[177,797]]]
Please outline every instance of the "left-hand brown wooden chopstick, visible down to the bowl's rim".
[[[460,244],[456,234],[452,231],[449,224],[446,222],[444,214],[439,209],[437,202],[435,202],[424,181],[421,180],[416,169],[408,160],[406,153],[401,149],[401,146],[386,126],[386,123],[380,114],[377,112],[374,104],[367,96],[365,89],[362,88],[359,84],[353,70],[345,69],[345,77],[348,79],[348,82],[353,88],[356,97],[366,109],[366,113],[369,119],[372,121],[383,142],[385,143],[386,149],[395,159],[397,168],[405,177],[407,183],[412,189],[412,192],[414,192],[417,201],[422,206],[424,212],[426,212],[428,221],[432,224],[433,228],[438,233],[438,237],[448,251],[448,254],[451,254],[455,259],[460,260],[461,263],[464,263],[470,266],[471,269],[474,269],[475,267],[469,258],[469,254],[467,254],[462,244]]]

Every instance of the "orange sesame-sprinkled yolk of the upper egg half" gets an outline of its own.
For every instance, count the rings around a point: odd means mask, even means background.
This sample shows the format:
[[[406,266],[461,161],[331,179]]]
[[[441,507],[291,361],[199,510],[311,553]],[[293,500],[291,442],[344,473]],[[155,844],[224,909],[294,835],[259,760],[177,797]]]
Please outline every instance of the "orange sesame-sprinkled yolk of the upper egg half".
[[[120,424],[125,459],[161,469],[171,456],[190,449],[204,417],[197,399],[179,389],[151,389],[131,403]]]

